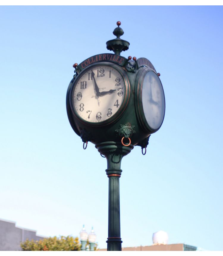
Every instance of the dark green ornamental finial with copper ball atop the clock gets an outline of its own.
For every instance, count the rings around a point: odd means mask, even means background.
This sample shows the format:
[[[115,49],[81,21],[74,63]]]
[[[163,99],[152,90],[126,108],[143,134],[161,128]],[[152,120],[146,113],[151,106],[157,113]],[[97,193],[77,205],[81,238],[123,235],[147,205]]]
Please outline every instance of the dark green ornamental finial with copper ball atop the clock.
[[[115,54],[120,55],[122,51],[127,51],[130,43],[120,38],[124,34],[122,28],[120,28],[121,22],[117,21],[117,28],[114,29],[113,34],[116,36],[115,39],[106,42],[107,49],[114,51]]]

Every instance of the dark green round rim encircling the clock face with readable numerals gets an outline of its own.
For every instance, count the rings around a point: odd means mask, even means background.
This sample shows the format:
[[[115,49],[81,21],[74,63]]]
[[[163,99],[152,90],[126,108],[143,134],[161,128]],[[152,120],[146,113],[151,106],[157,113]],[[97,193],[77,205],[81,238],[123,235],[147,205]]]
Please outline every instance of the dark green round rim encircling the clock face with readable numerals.
[[[78,112],[76,111],[76,109],[74,107],[74,103],[73,103],[74,88],[76,87],[76,84],[79,81],[79,77],[81,77],[82,74],[85,74],[90,69],[94,68],[95,66],[103,66],[103,65],[114,68],[117,72],[119,72],[119,74],[121,75],[121,77],[123,78],[123,81],[124,81],[124,85],[125,85],[124,94],[125,95],[124,95],[123,102],[121,103],[119,109],[117,110],[117,112],[114,115],[112,115],[110,118],[108,118],[104,121],[93,123],[93,122],[89,122],[89,121],[84,120],[83,118],[81,118],[80,115],[78,115]],[[111,123],[117,121],[123,115],[123,112],[124,112],[125,108],[128,105],[129,98],[130,98],[130,81],[128,79],[127,74],[125,74],[124,69],[121,68],[120,66],[118,66],[117,64],[114,64],[114,63],[111,63],[111,62],[94,63],[94,64],[84,68],[77,75],[75,80],[73,81],[73,84],[72,84],[71,89],[70,89],[70,108],[71,108],[72,113],[75,115],[76,118],[78,118],[79,121],[81,121],[81,123],[87,124],[89,126],[94,126],[94,127],[105,126],[105,125],[108,125],[108,124],[111,124]]]

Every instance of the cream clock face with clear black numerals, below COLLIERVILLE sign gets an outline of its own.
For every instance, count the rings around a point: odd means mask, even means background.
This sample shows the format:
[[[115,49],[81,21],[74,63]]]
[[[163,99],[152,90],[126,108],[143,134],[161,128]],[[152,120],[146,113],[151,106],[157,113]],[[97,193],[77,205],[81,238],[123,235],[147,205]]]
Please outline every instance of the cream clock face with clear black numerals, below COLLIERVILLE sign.
[[[129,98],[129,81],[115,64],[93,64],[78,74],[71,88],[70,105],[83,122],[107,123],[121,115]]]

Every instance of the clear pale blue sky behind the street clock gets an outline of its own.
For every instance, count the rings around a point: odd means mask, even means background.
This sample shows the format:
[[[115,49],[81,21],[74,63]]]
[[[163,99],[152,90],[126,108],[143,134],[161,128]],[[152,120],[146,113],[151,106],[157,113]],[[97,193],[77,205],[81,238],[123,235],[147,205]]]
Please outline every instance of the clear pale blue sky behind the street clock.
[[[122,246],[169,243],[223,250],[223,7],[0,7],[0,218],[38,235],[108,236],[106,160],[83,150],[66,92],[74,63],[106,49],[121,21],[129,50],[161,73],[162,127],[123,158]]]

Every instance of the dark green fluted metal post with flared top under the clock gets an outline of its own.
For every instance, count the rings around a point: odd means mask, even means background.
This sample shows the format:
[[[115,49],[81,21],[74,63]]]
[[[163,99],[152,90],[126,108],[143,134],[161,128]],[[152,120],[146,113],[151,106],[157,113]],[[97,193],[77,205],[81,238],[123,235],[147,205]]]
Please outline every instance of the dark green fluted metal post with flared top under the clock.
[[[121,251],[120,235],[120,197],[119,178],[122,170],[121,160],[133,149],[133,145],[123,146],[119,142],[103,142],[95,145],[98,151],[107,159],[106,174],[109,178],[109,222],[107,251]]]

